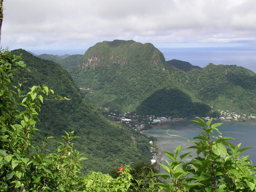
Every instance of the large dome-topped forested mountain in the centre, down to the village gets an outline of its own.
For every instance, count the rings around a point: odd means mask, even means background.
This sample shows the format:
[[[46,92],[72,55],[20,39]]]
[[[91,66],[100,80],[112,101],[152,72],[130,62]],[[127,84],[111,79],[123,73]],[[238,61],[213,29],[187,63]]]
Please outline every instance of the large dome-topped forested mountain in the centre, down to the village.
[[[197,116],[208,114],[210,107],[200,103],[173,75],[178,69],[166,64],[163,54],[150,43],[133,40],[104,41],[90,47],[78,67],[70,71],[74,83],[85,90],[85,96],[98,106],[119,112],[167,115],[176,103],[172,115]],[[162,109],[149,105],[163,90]],[[171,93],[180,97],[170,97]],[[154,100],[152,100],[154,98]],[[179,111],[188,99],[190,110]],[[177,100],[178,99],[178,100]],[[168,102],[165,102],[168,100]],[[202,106],[207,106],[202,109]],[[199,110],[198,110],[199,109]],[[151,114],[150,114],[151,115]]]

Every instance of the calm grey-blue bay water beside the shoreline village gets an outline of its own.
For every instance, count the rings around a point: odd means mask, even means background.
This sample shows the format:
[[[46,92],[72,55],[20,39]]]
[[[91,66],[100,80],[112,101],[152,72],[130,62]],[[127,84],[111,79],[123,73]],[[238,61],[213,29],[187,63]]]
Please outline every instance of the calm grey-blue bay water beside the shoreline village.
[[[256,146],[256,121],[248,122],[231,122],[231,121],[219,121],[223,124],[219,127],[222,136],[233,137],[235,140],[229,140],[233,144],[242,143],[241,148]],[[192,150],[186,149],[191,146],[191,143],[181,137],[169,136],[169,134],[183,136],[185,138],[193,139],[201,132],[201,128],[198,124],[191,122],[190,120],[166,122],[158,126],[154,126],[149,130],[146,130],[144,134],[148,136],[154,136],[158,138],[158,142],[162,150],[173,152],[173,150],[182,145],[182,153],[192,152],[194,156],[196,153]],[[256,148],[246,150],[242,155],[250,155],[250,160],[256,165]],[[162,155],[162,162],[167,160],[165,153]]]

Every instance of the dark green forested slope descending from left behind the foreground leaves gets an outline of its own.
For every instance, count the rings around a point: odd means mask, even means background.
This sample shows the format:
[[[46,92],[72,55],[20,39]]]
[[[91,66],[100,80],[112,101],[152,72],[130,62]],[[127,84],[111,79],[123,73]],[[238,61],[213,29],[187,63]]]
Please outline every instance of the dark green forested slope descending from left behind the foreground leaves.
[[[55,94],[70,97],[69,101],[44,101],[39,115],[40,122],[36,124],[40,134],[54,136],[48,147],[58,143],[60,135],[65,131],[75,131],[77,138],[74,147],[88,158],[84,162],[84,172],[91,170],[108,172],[110,169],[130,162],[149,161],[149,138],[130,129],[110,122],[100,112],[100,109],[84,98],[74,85],[71,76],[49,60],[40,59],[25,50],[12,51],[22,54],[24,62],[31,72],[19,73],[18,80],[28,81],[22,87],[28,91],[33,85],[46,84]]]

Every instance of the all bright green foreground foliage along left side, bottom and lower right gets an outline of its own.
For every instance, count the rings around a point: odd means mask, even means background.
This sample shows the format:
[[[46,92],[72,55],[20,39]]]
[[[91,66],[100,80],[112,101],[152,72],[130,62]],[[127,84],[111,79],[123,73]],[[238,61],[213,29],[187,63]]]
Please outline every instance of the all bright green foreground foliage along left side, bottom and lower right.
[[[18,50],[22,51],[22,50]],[[26,52],[24,52],[26,53]],[[41,104],[49,100],[68,101],[54,94],[47,86],[32,86],[29,92],[21,90],[24,83],[15,84],[14,74],[26,67],[20,57],[8,51],[0,52],[0,190],[3,192],[255,192],[256,168],[248,156],[240,157],[247,148],[240,149],[222,137],[220,123],[212,119],[194,121],[202,127],[202,134],[195,137],[190,148],[197,152],[188,162],[185,153],[179,156],[182,146],[170,158],[167,166],[160,164],[166,173],[153,174],[156,170],[145,163],[134,168],[121,166],[109,174],[91,172],[80,175],[81,162],[86,158],[74,150],[72,140],[78,139],[74,131],[65,132],[56,150],[45,149],[52,136],[42,137],[42,144],[32,145],[38,112]],[[219,136],[211,138],[212,132]],[[173,136],[173,135],[170,135]],[[168,179],[161,182],[156,176]]]

